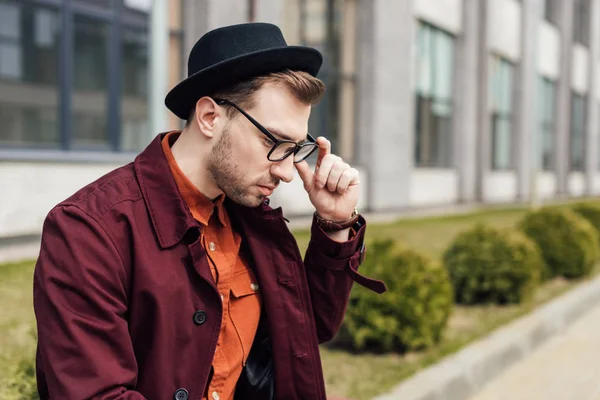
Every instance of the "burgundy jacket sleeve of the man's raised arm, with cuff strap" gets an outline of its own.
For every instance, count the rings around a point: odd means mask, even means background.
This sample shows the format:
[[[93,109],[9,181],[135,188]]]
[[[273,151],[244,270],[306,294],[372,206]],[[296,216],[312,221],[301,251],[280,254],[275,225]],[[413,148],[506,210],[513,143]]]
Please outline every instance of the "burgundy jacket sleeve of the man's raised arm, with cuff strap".
[[[354,237],[339,243],[327,236],[313,220],[304,264],[320,343],[331,340],[338,332],[353,282],[377,293],[386,290],[383,282],[358,273],[365,252],[366,223],[363,217],[359,223],[362,226]]]

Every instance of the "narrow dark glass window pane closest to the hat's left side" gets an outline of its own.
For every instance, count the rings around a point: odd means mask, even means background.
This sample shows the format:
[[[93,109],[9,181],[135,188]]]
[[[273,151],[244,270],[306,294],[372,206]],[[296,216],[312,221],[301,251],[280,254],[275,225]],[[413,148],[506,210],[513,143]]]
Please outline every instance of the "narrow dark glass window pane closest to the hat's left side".
[[[124,29],[121,43],[121,149],[137,151],[148,144],[148,32]]]

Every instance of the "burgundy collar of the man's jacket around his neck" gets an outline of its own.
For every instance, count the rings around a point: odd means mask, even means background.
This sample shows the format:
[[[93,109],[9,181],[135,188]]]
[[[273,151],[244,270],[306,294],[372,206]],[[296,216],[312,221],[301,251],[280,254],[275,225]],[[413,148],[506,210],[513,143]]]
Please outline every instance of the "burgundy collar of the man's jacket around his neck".
[[[179,243],[190,229],[198,232],[201,229],[181,197],[169,168],[161,144],[165,135],[166,133],[159,134],[134,161],[142,195],[163,249]],[[225,204],[228,210],[242,219],[265,221],[283,218],[281,208],[273,210],[268,202],[249,208],[227,198]]]

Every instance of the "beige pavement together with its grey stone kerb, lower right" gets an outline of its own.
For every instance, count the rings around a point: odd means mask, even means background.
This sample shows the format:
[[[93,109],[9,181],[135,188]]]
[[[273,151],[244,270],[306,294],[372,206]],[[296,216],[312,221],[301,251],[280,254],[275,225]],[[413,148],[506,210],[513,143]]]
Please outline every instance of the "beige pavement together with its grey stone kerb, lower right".
[[[600,276],[376,400],[600,400]]]

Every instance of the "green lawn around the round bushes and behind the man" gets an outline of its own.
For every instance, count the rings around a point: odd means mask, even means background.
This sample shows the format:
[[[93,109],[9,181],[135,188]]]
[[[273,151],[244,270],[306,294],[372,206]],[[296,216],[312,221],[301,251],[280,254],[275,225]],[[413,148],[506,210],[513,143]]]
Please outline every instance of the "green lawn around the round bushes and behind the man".
[[[440,258],[459,232],[477,222],[511,227],[523,217],[523,208],[488,210],[466,215],[402,220],[372,224],[368,238],[392,237],[412,248]],[[301,250],[308,231],[295,233]],[[599,272],[598,270],[596,272]],[[0,265],[0,399],[36,399],[33,386],[35,319],[32,307],[33,262]],[[321,347],[329,396],[369,399],[385,392],[423,367],[452,354],[469,342],[526,314],[571,289],[578,282],[555,279],[546,282],[534,299],[514,306],[456,306],[442,342],[430,350],[399,354],[352,354]]]

